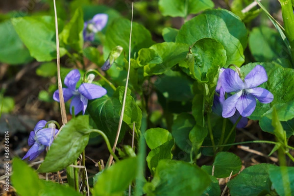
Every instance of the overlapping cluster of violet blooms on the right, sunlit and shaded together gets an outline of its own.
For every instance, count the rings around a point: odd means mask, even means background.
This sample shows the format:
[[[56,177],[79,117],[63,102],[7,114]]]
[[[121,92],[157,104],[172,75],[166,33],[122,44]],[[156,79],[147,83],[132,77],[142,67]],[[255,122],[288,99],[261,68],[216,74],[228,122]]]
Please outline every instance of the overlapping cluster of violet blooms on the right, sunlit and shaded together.
[[[270,91],[257,87],[268,81],[266,70],[261,65],[255,66],[244,78],[232,69],[221,69],[214,97],[213,111],[236,123],[242,116],[237,127],[245,127],[247,118],[256,107],[256,99],[261,103],[270,103],[273,95]],[[225,99],[227,93],[227,99]],[[234,94],[232,94],[234,93]]]

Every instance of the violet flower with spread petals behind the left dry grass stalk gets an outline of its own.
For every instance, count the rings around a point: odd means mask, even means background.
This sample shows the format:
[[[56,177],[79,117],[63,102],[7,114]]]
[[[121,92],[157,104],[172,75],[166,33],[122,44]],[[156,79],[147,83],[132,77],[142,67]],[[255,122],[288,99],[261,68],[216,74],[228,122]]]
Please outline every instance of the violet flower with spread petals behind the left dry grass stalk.
[[[76,83],[79,81],[80,77],[81,75],[77,69],[72,70],[64,79],[64,84],[68,88],[62,89],[65,102],[73,97],[70,105],[70,112],[72,114],[72,108],[74,107],[74,115],[77,115],[80,111],[83,111],[83,114],[85,114],[88,99],[100,98],[107,93],[103,87],[90,83],[83,83],[78,89],[75,89]],[[54,92],[53,99],[59,102],[58,90]]]

